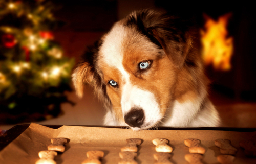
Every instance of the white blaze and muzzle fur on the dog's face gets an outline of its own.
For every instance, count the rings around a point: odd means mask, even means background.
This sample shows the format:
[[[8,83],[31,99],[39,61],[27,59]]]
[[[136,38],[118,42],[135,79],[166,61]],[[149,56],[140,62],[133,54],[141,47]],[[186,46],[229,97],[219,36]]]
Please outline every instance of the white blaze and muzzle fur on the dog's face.
[[[155,100],[154,94],[139,89],[130,83],[130,76],[125,71],[123,62],[122,42],[127,37],[126,31],[123,26],[115,24],[113,29],[105,36],[104,43],[100,48],[100,54],[102,55],[103,61],[119,70],[122,75],[124,85],[121,86],[122,97],[121,107],[123,116],[127,114],[131,108],[140,107],[144,110],[144,124],[141,128],[145,129],[156,124],[158,120],[162,118],[160,113],[159,105]],[[151,43],[151,42],[150,42]],[[151,43],[152,44],[152,43]],[[120,125],[114,118],[114,114],[108,111],[105,115],[105,125]],[[127,125],[127,124],[126,124]],[[138,130],[139,128],[133,128]]]

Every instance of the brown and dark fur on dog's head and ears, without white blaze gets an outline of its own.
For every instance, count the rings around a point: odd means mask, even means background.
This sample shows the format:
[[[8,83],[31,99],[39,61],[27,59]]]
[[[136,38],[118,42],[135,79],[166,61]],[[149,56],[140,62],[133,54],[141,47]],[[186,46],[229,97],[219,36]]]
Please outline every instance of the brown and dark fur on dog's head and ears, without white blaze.
[[[207,96],[208,79],[199,56],[199,39],[190,24],[166,13],[142,10],[116,25],[124,26],[127,32],[128,37],[121,43],[122,65],[132,85],[154,93],[163,115],[174,100],[183,103]],[[83,83],[91,83],[105,107],[112,109],[117,120],[124,123],[120,102],[125,82],[117,68],[104,63],[98,53],[100,46],[75,69],[74,85],[81,97]],[[138,68],[142,61],[151,62],[150,68],[143,72]],[[110,86],[109,80],[120,87]]]

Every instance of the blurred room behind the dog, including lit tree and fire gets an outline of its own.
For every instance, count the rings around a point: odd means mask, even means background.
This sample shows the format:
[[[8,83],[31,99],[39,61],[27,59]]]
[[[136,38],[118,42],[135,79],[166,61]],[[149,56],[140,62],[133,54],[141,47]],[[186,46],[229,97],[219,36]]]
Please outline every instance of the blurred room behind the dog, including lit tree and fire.
[[[87,86],[78,99],[71,72],[114,22],[143,8],[194,17],[223,127],[256,127],[255,14],[252,4],[163,0],[0,0],[0,130],[18,124],[102,125]]]

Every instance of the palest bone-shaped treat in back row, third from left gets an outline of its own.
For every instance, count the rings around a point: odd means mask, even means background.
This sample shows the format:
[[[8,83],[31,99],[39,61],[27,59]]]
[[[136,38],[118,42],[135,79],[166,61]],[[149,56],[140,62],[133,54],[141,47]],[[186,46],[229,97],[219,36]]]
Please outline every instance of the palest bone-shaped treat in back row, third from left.
[[[172,153],[173,148],[167,145],[169,142],[164,138],[156,138],[152,140],[152,143],[156,145],[157,152]]]

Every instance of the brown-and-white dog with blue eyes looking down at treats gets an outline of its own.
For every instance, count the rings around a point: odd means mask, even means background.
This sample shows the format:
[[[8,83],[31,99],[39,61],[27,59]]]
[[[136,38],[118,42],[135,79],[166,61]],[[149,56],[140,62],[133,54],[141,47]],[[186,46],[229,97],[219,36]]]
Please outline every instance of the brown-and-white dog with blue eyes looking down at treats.
[[[104,125],[218,127],[199,37],[189,21],[144,9],[116,22],[81,56],[72,81],[77,95],[94,87]]]

